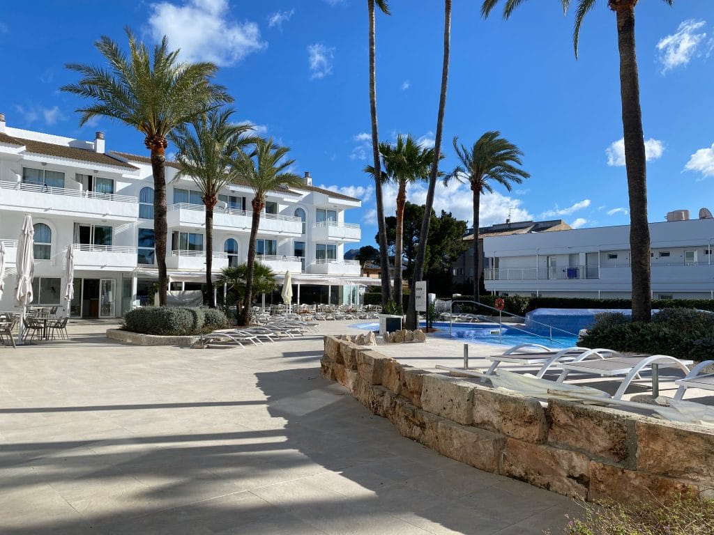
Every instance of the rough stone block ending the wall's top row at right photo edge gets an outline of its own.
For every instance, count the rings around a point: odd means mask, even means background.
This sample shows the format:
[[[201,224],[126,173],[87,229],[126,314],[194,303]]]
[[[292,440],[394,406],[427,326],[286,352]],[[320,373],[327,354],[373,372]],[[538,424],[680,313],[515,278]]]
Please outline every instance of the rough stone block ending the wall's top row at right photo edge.
[[[650,418],[635,429],[638,470],[714,487],[714,429]]]

